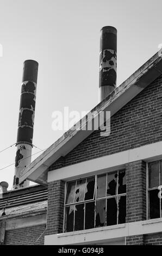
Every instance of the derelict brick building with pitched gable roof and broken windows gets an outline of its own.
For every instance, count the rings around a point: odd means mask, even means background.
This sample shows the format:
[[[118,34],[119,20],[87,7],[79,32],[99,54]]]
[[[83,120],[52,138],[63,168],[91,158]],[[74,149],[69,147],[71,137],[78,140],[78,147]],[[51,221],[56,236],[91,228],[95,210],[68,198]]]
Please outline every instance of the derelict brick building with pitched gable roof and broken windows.
[[[107,111],[111,114],[109,136],[101,136],[101,129],[83,129]],[[94,112],[96,117],[91,115]],[[45,245],[161,245],[159,53],[105,97],[88,117],[21,172],[20,182],[28,179],[41,188],[48,186],[47,221],[36,225],[34,239]],[[5,218],[0,218],[1,225]],[[13,234],[21,237],[23,230],[33,233],[33,224],[13,231],[8,228],[4,243],[10,242]],[[24,243],[23,238],[18,241]]]

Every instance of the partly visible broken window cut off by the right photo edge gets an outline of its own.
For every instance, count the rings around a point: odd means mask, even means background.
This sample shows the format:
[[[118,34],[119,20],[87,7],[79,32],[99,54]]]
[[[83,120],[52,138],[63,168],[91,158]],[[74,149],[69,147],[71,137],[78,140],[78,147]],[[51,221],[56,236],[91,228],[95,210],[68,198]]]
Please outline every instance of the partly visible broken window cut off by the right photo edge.
[[[162,161],[148,163],[148,218],[161,218]]]

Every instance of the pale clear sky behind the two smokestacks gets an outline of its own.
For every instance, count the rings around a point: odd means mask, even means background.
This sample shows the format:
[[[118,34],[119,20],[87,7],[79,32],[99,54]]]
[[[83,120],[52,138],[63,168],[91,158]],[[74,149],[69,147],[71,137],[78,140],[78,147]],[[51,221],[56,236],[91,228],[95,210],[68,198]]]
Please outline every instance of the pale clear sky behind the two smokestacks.
[[[39,62],[33,144],[43,150],[65,132],[52,129],[54,111],[98,103],[100,29],[117,28],[119,86],[162,44],[161,8],[161,0],[0,0],[0,151],[16,143],[24,60]],[[1,152],[0,169],[15,154],[15,146]],[[14,164],[0,170],[9,189],[13,176]]]

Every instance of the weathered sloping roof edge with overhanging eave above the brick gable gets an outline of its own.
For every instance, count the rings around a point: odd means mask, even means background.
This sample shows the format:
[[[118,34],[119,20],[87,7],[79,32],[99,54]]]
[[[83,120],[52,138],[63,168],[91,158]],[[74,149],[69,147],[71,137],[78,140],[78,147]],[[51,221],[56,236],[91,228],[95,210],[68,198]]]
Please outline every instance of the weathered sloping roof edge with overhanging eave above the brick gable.
[[[126,81],[109,94],[100,102],[92,112],[110,111],[111,117],[119,111],[124,105],[144,90],[151,82],[162,74],[162,58],[157,52],[144,65],[134,72]],[[20,182],[28,179],[42,185],[47,185],[48,167],[57,161],[59,157],[65,156],[80,142],[88,137],[94,130],[79,130],[80,123],[87,125],[94,117],[88,114],[90,118],[86,121],[81,119],[72,129],[68,130],[56,142],[54,142],[46,151],[37,157],[21,172]],[[83,127],[83,126],[82,126]]]

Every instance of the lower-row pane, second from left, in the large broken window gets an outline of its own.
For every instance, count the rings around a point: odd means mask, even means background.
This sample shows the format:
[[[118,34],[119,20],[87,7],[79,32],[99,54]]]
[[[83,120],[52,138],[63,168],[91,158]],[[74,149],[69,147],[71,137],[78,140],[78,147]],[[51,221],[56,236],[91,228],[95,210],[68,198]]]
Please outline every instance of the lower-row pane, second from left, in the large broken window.
[[[84,204],[75,205],[74,230],[84,229]]]

